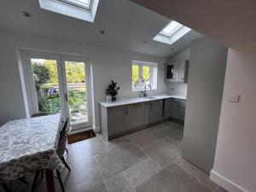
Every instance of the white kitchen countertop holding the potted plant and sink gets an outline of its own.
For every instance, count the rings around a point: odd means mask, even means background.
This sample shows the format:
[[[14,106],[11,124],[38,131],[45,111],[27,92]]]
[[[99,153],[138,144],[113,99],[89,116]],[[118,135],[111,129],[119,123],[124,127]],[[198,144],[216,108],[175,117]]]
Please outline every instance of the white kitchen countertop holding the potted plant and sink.
[[[168,99],[168,98],[177,98],[177,99],[187,100],[186,96],[163,95],[163,96],[148,96],[148,98],[147,97],[146,98],[145,97],[125,98],[125,99],[117,100],[116,102],[100,102],[100,104],[105,108],[109,108],[109,107],[115,107],[120,105],[128,105],[128,104],[133,104],[138,102],[150,102],[154,100]]]

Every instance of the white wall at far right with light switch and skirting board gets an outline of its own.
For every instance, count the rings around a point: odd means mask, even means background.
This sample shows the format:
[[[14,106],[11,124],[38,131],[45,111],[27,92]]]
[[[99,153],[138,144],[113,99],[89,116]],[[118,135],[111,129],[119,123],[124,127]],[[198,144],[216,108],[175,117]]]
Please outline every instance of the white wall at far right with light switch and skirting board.
[[[256,42],[229,49],[213,181],[230,192],[256,191]],[[229,96],[241,95],[240,102]]]

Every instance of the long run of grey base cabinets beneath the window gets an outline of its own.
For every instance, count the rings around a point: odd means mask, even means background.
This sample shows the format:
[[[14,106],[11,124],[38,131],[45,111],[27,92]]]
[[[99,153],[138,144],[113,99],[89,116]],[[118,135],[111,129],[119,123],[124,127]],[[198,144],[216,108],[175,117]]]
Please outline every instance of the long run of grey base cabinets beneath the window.
[[[102,135],[107,139],[143,129],[163,119],[163,100],[110,108],[101,105]]]

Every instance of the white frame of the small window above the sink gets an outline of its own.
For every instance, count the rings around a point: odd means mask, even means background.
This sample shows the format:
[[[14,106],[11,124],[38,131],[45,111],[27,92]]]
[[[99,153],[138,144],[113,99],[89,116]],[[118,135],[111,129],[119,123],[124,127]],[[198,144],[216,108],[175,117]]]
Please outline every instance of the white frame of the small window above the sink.
[[[132,66],[137,65],[139,67],[138,70],[138,88],[134,89],[132,87]],[[145,88],[142,87],[142,76],[143,76],[143,66],[149,67],[149,84],[151,86],[151,90],[157,90],[157,74],[158,74],[158,63],[155,62],[148,62],[148,61],[132,61],[131,63],[131,90],[132,91],[142,91],[145,90]],[[149,87],[146,88],[147,90],[150,90]]]

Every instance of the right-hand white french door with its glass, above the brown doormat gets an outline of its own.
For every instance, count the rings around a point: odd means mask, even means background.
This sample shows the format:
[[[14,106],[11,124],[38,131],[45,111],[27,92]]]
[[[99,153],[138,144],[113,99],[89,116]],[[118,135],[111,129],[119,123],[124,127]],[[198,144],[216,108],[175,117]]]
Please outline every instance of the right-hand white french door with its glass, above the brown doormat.
[[[74,56],[62,56],[66,113],[73,130],[90,126],[90,69],[88,61]]]

